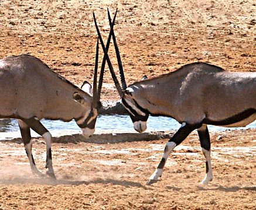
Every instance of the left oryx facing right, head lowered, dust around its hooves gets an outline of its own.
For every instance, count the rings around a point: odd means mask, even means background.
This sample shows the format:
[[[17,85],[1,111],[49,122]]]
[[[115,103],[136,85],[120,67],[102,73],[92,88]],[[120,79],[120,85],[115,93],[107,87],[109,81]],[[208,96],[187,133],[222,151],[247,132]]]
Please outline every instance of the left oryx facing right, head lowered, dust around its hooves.
[[[91,86],[84,82],[78,88],[52,71],[44,62],[31,55],[0,60],[0,118],[18,119],[30,169],[40,176],[32,155],[30,128],[46,141],[47,174],[55,178],[52,166],[52,135],[41,124],[49,120],[75,120],[83,135],[93,135],[98,115],[100,92],[97,93],[98,41],[95,58],[93,96]],[[99,86],[103,81],[99,81]],[[87,92],[84,90],[87,89]]]

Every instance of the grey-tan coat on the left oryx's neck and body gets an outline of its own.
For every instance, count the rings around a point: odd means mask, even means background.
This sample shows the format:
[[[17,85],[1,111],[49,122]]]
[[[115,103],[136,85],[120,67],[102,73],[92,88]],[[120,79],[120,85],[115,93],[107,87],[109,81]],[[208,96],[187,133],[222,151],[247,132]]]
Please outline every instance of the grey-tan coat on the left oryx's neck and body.
[[[78,103],[73,93],[85,100]],[[0,116],[37,117],[70,121],[91,108],[90,95],[60,78],[30,55],[0,60]]]

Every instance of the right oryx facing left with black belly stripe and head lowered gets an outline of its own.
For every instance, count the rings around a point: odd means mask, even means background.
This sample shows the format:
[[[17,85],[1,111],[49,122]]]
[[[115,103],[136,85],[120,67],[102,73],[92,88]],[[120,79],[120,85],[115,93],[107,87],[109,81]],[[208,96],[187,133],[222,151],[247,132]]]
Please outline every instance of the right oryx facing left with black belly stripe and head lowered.
[[[256,119],[256,72],[227,72],[215,65],[196,62],[169,74],[135,82],[127,88],[120,66],[121,88],[95,18],[94,22],[112,78],[123,106],[129,111],[134,129],[145,131],[149,114],[172,117],[182,124],[166,143],[162,160],[147,184],[158,181],[170,152],[194,129],[197,129],[206,158],[206,176],[202,184],[208,184],[213,175],[207,124],[241,127]],[[117,49],[114,31],[112,37]],[[118,50],[116,53],[120,64]]]

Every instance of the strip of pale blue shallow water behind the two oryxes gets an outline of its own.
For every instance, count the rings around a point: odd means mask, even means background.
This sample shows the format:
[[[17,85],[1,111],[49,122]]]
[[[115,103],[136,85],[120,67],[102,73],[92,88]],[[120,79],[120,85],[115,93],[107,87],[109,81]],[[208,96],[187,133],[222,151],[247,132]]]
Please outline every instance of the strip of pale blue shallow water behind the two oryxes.
[[[43,125],[51,133],[54,132],[79,132],[80,128],[77,126],[76,122],[62,122],[60,120],[51,121],[51,120],[42,120]],[[173,129],[179,129],[180,124],[173,120],[170,117],[152,117],[149,116],[148,128],[146,131],[170,131]],[[225,131],[226,129],[246,129],[246,128],[256,128],[256,121],[247,125],[247,127],[239,127],[239,128],[224,128],[217,127],[213,125],[208,126],[211,131]],[[117,131],[134,131],[134,127],[132,124],[129,115],[99,115],[96,121],[96,131],[103,130],[117,130]],[[0,120],[0,139],[3,139],[3,136],[6,133],[10,132],[18,132],[19,127],[18,122],[14,119],[4,119]],[[18,135],[18,134],[17,134]],[[32,136],[38,136],[35,132],[32,132]],[[2,137],[2,138],[1,138]]]

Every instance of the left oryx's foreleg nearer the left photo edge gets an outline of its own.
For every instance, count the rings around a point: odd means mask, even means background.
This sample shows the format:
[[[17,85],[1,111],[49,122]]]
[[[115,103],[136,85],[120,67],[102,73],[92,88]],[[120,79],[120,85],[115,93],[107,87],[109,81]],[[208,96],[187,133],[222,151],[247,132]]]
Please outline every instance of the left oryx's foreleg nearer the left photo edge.
[[[43,176],[43,173],[37,169],[35,160],[32,155],[32,141],[31,141],[31,135],[30,135],[30,128],[22,120],[18,120],[18,124],[19,124],[19,129],[21,131],[21,136],[23,139],[25,151],[29,159],[30,169],[32,170],[33,173],[39,176]]]

